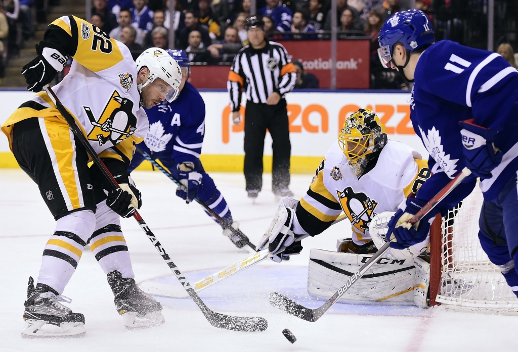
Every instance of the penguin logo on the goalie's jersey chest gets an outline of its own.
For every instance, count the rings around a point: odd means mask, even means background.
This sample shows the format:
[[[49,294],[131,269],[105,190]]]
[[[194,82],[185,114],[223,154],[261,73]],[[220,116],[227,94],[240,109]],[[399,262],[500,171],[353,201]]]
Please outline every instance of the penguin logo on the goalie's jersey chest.
[[[343,212],[351,221],[351,225],[365,233],[369,229],[369,222],[374,216],[378,202],[371,200],[365,193],[354,193],[351,187],[337,193]]]

